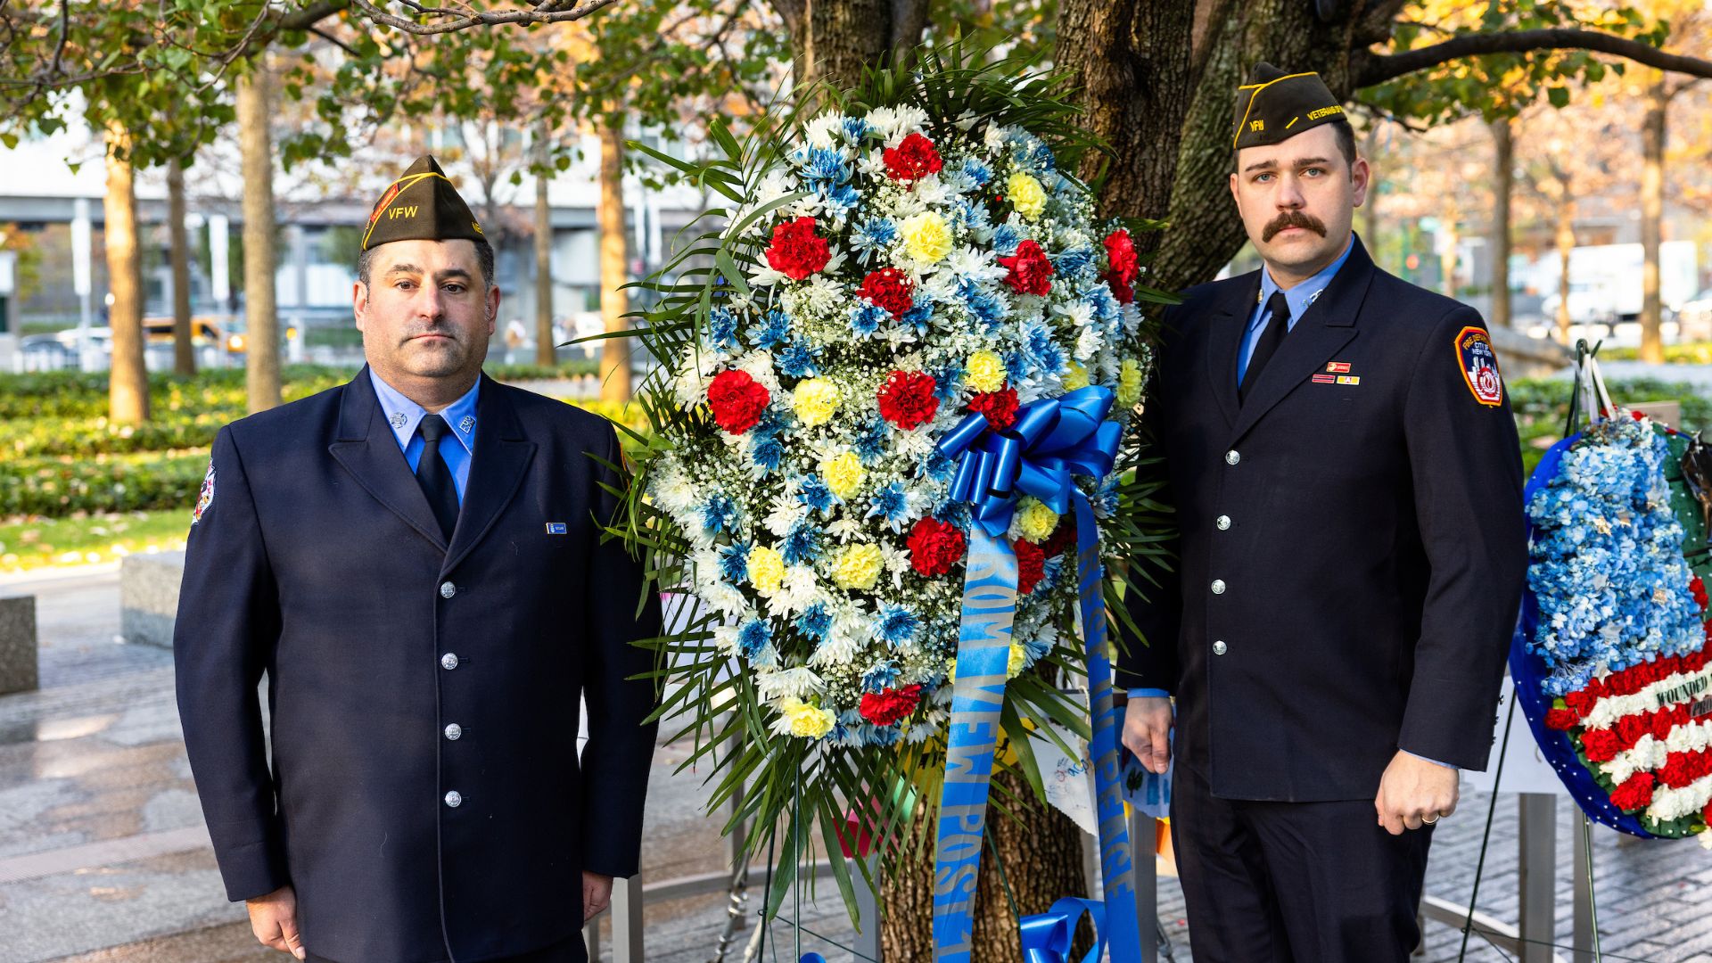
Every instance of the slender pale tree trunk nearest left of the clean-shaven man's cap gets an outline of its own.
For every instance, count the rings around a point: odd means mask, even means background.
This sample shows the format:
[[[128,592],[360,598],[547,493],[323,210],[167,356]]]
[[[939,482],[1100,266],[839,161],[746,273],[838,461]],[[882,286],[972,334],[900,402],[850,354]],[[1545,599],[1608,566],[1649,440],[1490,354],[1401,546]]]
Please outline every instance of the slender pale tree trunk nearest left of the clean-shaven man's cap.
[[[238,153],[243,168],[245,382],[250,411],[279,404],[279,317],[274,303],[274,151],[267,63],[238,77]]]

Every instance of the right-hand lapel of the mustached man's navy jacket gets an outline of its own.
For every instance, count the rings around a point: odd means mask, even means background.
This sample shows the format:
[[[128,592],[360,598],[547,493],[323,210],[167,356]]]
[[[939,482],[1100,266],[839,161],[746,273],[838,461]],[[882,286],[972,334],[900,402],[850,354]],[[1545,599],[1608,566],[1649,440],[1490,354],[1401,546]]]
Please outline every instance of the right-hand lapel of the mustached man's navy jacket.
[[[1339,348],[1356,338],[1356,315],[1361,314],[1361,302],[1368,296],[1368,284],[1373,281],[1373,259],[1361,247],[1361,238],[1351,235],[1349,243],[1349,260],[1337,269],[1337,276],[1332,278],[1325,293],[1301,312],[1289,338],[1279,344],[1277,355],[1272,355],[1265,370],[1260,372],[1260,380],[1255,382],[1236,418],[1236,427],[1231,430],[1231,444],[1236,444],[1262,415],[1284,401]]]

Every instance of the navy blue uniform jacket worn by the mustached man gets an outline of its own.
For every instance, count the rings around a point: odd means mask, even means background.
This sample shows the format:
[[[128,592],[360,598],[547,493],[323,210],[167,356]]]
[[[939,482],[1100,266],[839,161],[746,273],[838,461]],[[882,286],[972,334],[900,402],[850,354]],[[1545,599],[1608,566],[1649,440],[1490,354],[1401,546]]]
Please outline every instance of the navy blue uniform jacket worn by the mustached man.
[[[1178,764],[1219,797],[1373,799],[1397,749],[1491,749],[1527,571],[1515,422],[1479,314],[1352,243],[1246,404],[1260,272],[1166,312],[1144,423],[1178,562],[1125,600],[1149,644],[1118,684],[1178,697]]]

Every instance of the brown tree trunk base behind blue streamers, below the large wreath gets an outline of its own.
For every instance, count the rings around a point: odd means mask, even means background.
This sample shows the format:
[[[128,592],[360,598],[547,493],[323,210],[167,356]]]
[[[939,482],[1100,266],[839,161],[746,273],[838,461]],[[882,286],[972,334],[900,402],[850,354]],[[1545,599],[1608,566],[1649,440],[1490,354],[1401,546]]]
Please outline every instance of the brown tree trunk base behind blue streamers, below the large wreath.
[[[969,953],[969,960],[981,963],[1022,963],[1017,917],[1010,912],[1005,882],[1010,884],[1010,896],[1017,900],[1022,915],[1044,913],[1063,896],[1089,893],[1082,872],[1082,829],[1065,814],[1037,802],[1034,790],[1020,776],[995,775],[993,799],[1005,799],[1005,790],[1027,800],[1029,809],[1017,814],[1020,826],[991,805],[986,810],[986,836],[991,840],[991,848],[981,852],[981,881],[976,888]],[[919,812],[923,810],[918,809]],[[918,824],[914,829],[924,828]],[[926,831],[931,834],[931,828]],[[998,852],[1000,865],[995,865],[993,850]],[[916,858],[904,860],[897,877],[883,882],[883,891],[880,956],[933,960],[933,846],[926,845]],[[1145,920],[1142,932],[1152,932]],[[1084,934],[1077,941],[1073,958],[1080,958],[1089,946],[1092,941]]]

